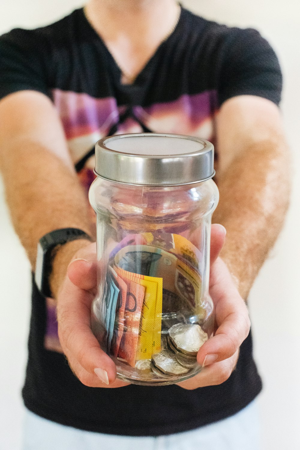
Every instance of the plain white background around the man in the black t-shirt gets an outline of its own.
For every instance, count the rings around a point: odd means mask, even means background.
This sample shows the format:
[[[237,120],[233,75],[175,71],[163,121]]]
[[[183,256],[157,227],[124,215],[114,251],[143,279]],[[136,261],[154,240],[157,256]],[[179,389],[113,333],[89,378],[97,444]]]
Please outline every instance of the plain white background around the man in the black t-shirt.
[[[120,0],[122,1],[122,0]],[[262,450],[300,449],[300,7],[299,0],[185,0],[204,17],[255,27],[276,50],[284,75],[281,104],[293,153],[293,194],[285,227],[251,291]],[[0,0],[0,33],[51,23],[78,0]],[[30,267],[14,234],[0,185],[0,449],[19,450],[30,315]],[[43,449],[41,449],[43,450]],[[243,450],[243,449],[241,449]]]

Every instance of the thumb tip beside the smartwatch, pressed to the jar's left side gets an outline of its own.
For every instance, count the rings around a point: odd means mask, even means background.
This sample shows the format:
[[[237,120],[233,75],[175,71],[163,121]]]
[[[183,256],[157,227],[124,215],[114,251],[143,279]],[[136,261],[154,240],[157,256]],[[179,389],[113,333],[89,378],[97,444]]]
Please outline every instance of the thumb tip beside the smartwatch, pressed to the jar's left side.
[[[75,286],[86,291],[97,286],[97,264],[94,261],[81,258],[71,261],[67,275]]]

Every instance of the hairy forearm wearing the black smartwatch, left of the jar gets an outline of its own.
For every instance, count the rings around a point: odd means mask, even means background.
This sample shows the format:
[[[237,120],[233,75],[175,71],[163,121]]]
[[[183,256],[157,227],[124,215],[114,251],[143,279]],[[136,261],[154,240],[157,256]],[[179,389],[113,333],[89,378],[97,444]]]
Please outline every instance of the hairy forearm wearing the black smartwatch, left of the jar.
[[[2,155],[4,152],[2,152]],[[74,227],[92,237],[95,230],[88,214],[88,201],[75,171],[47,148],[32,140],[13,140],[1,158],[5,196],[13,226],[35,270],[39,239],[54,229]],[[9,155],[9,157],[8,157]],[[57,253],[61,272],[82,241],[66,245]],[[60,254],[60,256],[59,256]],[[56,270],[54,284],[60,281]]]

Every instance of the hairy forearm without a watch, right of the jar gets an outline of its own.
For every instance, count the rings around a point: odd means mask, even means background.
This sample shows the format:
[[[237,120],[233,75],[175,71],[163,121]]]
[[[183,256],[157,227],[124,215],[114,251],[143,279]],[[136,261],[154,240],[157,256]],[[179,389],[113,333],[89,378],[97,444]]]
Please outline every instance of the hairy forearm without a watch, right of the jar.
[[[227,229],[221,257],[244,299],[287,212],[289,152],[282,136],[277,138],[249,145],[224,171],[217,172],[220,202],[213,222]]]

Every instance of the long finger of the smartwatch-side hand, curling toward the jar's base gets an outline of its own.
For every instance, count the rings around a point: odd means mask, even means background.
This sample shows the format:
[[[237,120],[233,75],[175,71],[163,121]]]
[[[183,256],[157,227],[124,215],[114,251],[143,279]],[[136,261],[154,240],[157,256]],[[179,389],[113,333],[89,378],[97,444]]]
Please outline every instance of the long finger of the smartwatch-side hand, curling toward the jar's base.
[[[63,300],[60,301],[60,298]],[[67,299],[67,300],[66,300]],[[69,352],[90,374],[102,369],[109,383],[115,381],[115,363],[101,350],[90,329],[90,308],[93,296],[66,279],[57,301],[58,336],[64,353]]]

